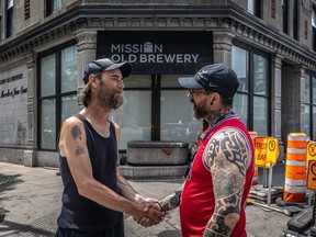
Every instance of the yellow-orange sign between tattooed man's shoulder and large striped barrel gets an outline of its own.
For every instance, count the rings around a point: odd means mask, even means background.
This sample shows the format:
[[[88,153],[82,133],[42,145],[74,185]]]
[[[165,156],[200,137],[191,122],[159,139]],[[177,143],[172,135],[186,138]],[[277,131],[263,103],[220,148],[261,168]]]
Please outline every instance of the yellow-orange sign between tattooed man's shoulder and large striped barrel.
[[[256,137],[255,165],[269,168],[270,163],[276,163],[279,156],[279,140],[274,137]]]

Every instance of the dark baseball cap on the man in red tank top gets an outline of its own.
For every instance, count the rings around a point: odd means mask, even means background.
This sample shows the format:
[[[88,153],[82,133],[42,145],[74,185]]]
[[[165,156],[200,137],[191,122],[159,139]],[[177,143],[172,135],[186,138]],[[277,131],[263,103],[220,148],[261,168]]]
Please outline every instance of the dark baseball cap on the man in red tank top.
[[[187,89],[205,89],[232,99],[239,87],[235,71],[225,64],[207,65],[193,77],[179,78],[178,81]]]

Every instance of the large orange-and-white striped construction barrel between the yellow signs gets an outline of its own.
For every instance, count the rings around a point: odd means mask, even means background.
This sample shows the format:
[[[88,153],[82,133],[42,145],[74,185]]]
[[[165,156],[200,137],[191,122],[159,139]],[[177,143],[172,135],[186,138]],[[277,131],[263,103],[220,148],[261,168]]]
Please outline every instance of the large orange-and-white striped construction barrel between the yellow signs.
[[[306,142],[304,133],[287,135],[285,181],[283,201],[289,203],[306,202]]]

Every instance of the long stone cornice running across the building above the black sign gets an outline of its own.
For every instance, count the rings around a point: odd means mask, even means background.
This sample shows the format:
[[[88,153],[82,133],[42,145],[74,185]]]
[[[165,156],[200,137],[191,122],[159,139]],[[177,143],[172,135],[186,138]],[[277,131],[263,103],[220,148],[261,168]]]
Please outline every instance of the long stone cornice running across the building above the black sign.
[[[286,35],[250,18],[232,5],[76,5],[58,18],[38,25],[0,46],[0,61],[49,44],[77,31],[228,31],[234,41],[249,43],[264,52],[282,55],[289,60],[316,70],[316,54]],[[78,50],[95,48],[93,41],[81,38]],[[219,47],[219,46],[218,46]]]

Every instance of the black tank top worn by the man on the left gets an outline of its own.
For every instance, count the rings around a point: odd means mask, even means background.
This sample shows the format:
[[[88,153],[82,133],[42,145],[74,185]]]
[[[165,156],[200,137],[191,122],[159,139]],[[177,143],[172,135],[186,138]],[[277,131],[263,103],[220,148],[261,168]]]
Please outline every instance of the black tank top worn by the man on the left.
[[[87,146],[94,179],[117,192],[115,176],[117,149],[114,124],[110,121],[110,136],[105,138],[81,114],[76,114],[75,116],[84,124]],[[59,155],[59,161],[65,188],[61,196],[61,213],[57,219],[57,225],[61,228],[86,232],[113,227],[120,216],[122,216],[122,213],[105,208],[79,195],[66,157]]]

